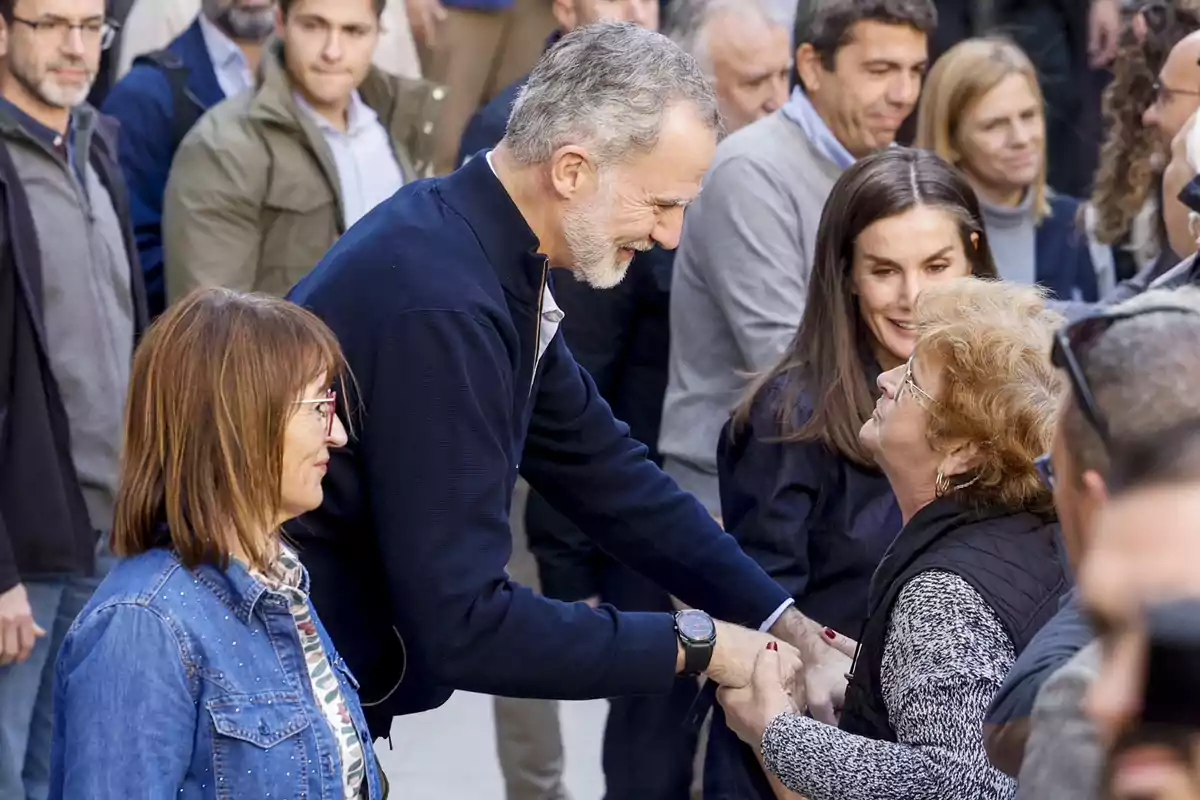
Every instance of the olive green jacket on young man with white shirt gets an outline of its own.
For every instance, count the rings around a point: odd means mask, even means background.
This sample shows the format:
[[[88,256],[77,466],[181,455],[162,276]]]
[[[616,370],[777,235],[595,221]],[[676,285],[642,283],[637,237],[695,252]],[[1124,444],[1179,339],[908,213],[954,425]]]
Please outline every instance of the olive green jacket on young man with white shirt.
[[[445,90],[372,68],[359,94],[404,182],[428,176]],[[334,155],[296,106],[281,43],[264,52],[254,91],[214,106],[185,137],[162,228],[168,302],[197,287],[282,296],[346,231]]]

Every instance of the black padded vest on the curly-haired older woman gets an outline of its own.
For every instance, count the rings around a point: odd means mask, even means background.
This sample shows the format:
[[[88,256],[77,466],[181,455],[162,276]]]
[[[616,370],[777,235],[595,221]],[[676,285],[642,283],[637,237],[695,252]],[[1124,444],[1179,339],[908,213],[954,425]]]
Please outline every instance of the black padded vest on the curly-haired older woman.
[[[896,740],[880,674],[888,621],[905,584],[931,570],[971,584],[996,613],[1018,656],[1058,610],[1068,588],[1056,522],[1030,512],[965,509],[950,498],[930,503],[900,531],[871,581],[842,730]]]

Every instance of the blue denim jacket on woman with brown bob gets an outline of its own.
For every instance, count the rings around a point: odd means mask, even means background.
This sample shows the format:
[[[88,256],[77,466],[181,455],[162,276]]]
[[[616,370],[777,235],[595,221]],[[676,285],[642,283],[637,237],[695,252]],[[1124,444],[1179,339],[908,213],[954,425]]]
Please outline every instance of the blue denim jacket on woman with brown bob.
[[[317,625],[370,798],[382,798],[358,684]],[[341,800],[340,754],[283,597],[238,563],[190,572],[155,549],[118,564],[59,655],[50,798]]]

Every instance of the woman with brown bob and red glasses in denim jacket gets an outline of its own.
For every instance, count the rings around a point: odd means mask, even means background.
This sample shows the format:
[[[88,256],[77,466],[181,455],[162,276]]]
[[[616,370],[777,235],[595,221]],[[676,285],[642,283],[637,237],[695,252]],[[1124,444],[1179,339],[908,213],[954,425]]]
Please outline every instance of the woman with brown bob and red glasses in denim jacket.
[[[282,540],[346,444],[341,348],[307,311],[193,293],[133,359],[124,560],[67,633],[52,798],[383,798],[356,684]]]

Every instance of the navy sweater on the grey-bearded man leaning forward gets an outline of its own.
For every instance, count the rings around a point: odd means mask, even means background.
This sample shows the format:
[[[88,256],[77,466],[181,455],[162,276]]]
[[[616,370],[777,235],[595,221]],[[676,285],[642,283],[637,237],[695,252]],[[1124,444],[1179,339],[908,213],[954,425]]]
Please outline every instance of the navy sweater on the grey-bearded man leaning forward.
[[[476,158],[380,204],[292,293],[340,338],[360,413],[324,505],[290,533],[338,650],[376,673],[359,675],[365,687],[388,685],[373,642],[392,625],[403,639],[409,682],[385,704],[395,712],[437,705],[445,687],[564,699],[671,688],[670,614],[560,603],[509,582],[518,471],[690,606],[758,627],[788,600],[647,459],[562,336],[534,363],[548,271],[536,249]]]

